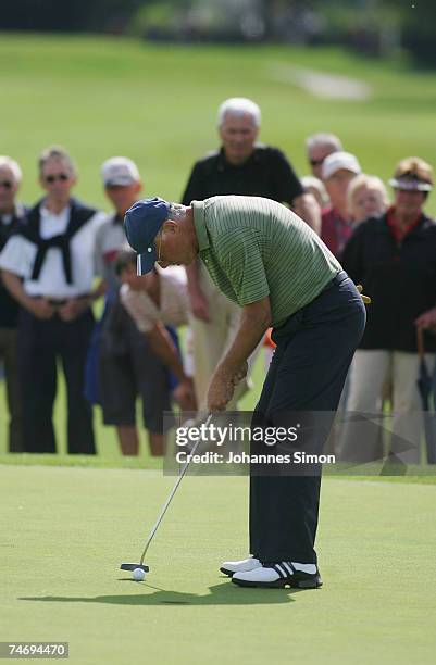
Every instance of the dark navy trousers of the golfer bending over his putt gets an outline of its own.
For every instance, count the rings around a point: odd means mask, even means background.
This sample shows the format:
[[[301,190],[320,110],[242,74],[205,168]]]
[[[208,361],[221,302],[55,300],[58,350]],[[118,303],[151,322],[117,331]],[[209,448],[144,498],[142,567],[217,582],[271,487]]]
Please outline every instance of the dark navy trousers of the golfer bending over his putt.
[[[359,292],[347,274],[339,273],[314,301],[273,330],[277,348],[253,423],[278,427],[292,412],[335,412],[364,323]],[[324,442],[319,442],[320,449]],[[251,475],[251,554],[262,563],[316,563],[320,489],[321,472]]]

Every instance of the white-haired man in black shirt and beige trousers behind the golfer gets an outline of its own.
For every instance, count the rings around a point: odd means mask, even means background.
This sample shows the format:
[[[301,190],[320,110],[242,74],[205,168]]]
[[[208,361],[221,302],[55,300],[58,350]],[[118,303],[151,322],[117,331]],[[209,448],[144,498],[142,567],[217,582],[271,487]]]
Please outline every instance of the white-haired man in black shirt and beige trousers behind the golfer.
[[[264,197],[286,203],[316,233],[321,219],[316,202],[303,192],[292,166],[277,148],[257,142],[261,113],[249,99],[232,98],[219,109],[220,150],[194,165],[182,198],[184,205],[217,195]],[[239,308],[212,285],[207,271],[195,263],[187,268],[194,314],[194,360],[197,400],[201,405],[209,379],[238,327]],[[247,389],[240,384],[235,400]],[[233,401],[228,409],[235,407]]]

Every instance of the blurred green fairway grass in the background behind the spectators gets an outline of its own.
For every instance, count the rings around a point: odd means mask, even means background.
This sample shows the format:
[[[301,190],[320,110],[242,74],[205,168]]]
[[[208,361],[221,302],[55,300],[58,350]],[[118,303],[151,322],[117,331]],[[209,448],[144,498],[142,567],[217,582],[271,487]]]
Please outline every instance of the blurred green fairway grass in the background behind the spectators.
[[[304,66],[371,85],[365,102],[315,99],[277,79],[277,68]],[[338,49],[188,47],[148,45],[111,37],[1,35],[0,86],[5,91],[1,151],[23,166],[22,198],[40,196],[36,156],[63,143],[79,168],[77,195],[108,209],[99,167],[114,154],[137,161],[147,195],[178,199],[192,162],[216,146],[215,113],[231,96],[262,108],[261,138],[282,147],[298,172],[307,172],[304,137],[337,133],[363,168],[385,179],[402,156],[434,161],[436,74],[406,62],[359,59]],[[436,213],[436,199],[428,211]],[[256,402],[263,367],[256,371]],[[64,397],[55,413],[59,449],[65,450]],[[4,393],[0,387],[0,453],[5,451]],[[120,461],[111,428],[96,412],[100,454]],[[144,453],[146,454],[146,453]]]

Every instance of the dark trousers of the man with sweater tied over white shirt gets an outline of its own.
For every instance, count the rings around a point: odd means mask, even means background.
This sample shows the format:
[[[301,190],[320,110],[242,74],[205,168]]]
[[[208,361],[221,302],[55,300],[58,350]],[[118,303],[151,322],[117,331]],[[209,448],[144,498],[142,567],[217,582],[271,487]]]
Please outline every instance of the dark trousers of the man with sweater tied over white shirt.
[[[84,397],[85,360],[94,326],[90,311],[72,322],[42,321],[23,310],[18,326],[18,376],[25,452],[57,452],[52,423],[60,359],[67,392],[68,453],[95,454],[92,411]]]

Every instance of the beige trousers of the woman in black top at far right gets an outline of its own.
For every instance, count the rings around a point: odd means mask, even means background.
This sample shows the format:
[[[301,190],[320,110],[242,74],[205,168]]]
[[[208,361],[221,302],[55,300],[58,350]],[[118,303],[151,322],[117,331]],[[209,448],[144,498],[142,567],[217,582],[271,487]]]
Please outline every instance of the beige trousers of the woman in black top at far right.
[[[431,372],[434,369],[435,355],[426,354]],[[416,464],[420,461],[420,441],[423,434],[422,404],[418,389],[420,359],[418,353],[384,350],[359,350],[356,352],[350,375],[350,391],[347,411],[379,413],[382,409],[383,387],[391,385],[391,413],[389,429],[400,437],[391,439],[391,452],[402,462]],[[349,432],[346,434],[349,436]],[[378,432],[379,434],[379,432]],[[344,449],[354,446],[356,441],[344,439]],[[404,446],[404,441],[407,442]],[[382,439],[368,438],[359,442],[365,447],[361,450],[362,460],[381,459],[383,455]],[[407,450],[404,450],[404,448]]]

